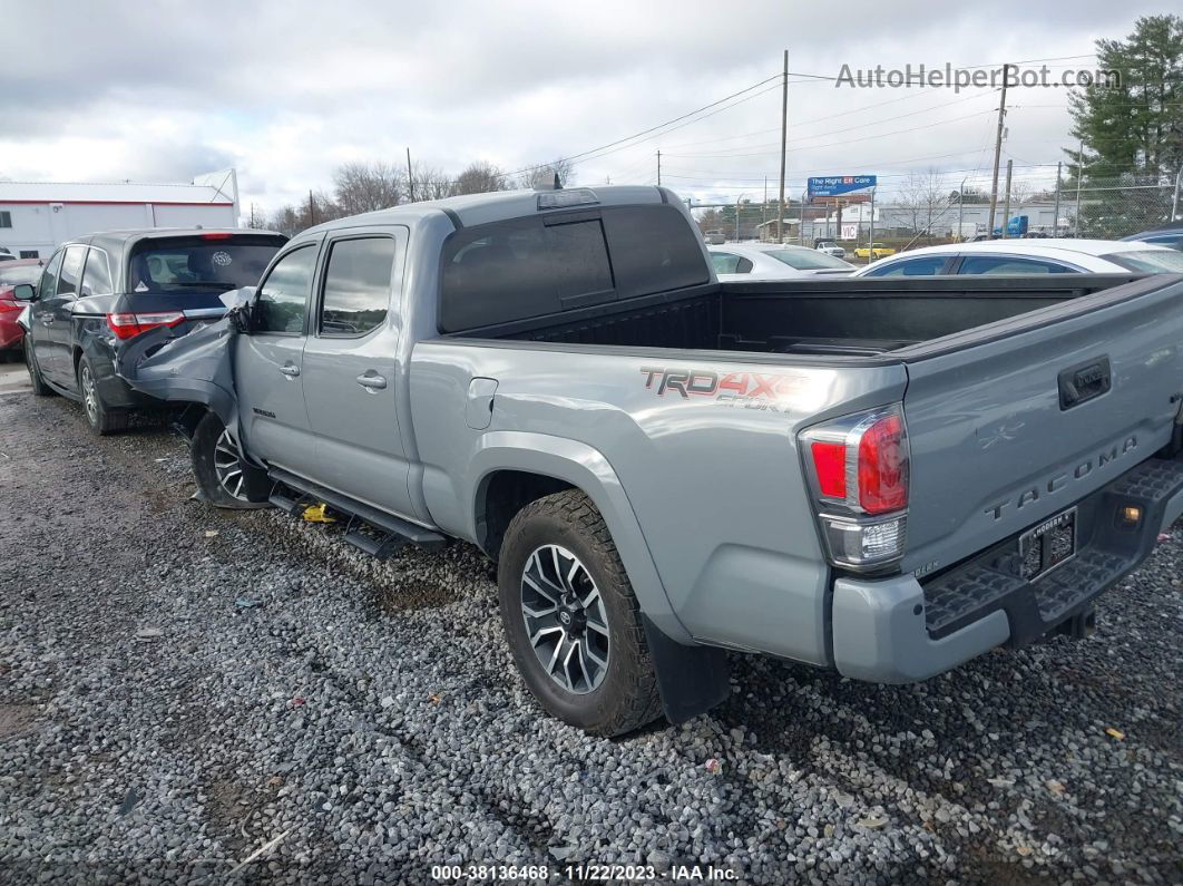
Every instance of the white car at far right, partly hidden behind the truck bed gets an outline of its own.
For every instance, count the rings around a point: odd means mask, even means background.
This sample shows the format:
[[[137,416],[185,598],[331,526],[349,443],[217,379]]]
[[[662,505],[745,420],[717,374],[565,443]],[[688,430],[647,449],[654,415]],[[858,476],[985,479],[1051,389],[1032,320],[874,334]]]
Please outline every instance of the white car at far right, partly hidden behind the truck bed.
[[[1183,253],[1139,240],[984,240],[925,246],[879,259],[854,277],[932,274],[1183,273]]]

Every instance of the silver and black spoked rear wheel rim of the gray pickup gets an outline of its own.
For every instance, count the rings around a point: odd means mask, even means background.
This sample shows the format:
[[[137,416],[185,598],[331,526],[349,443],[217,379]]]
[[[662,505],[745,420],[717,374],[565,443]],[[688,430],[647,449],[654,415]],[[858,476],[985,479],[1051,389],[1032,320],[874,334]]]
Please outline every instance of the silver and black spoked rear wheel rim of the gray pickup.
[[[547,675],[586,694],[608,673],[608,616],[600,589],[578,557],[557,544],[538,548],[522,571],[522,617]]]

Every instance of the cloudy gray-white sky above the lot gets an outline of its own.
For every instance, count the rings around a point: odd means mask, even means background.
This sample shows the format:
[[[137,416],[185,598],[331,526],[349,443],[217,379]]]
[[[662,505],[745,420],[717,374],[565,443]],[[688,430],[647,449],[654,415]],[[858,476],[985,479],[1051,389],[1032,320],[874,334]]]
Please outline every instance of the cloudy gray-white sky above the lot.
[[[778,175],[789,50],[789,192],[808,175],[987,173],[997,92],[835,86],[843,64],[1090,67],[1158,4],[93,2],[0,0],[0,177],[188,181],[237,167],[244,207],[330,188],[351,160],[576,157],[577,183],[758,199]],[[1037,66],[1037,64],[1032,65]],[[683,117],[639,138],[634,134]],[[1066,90],[1011,90],[1003,159],[1054,176]],[[593,150],[612,145],[603,150]],[[1051,164],[1051,166],[1041,166]],[[972,179],[971,179],[972,180]]]

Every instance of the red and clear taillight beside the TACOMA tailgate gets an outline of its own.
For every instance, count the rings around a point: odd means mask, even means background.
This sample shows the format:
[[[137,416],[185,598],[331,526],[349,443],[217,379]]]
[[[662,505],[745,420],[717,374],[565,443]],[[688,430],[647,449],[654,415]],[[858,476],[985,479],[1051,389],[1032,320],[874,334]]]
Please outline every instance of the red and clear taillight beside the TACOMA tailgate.
[[[899,406],[801,433],[817,519],[835,565],[877,569],[904,555],[909,447]]]

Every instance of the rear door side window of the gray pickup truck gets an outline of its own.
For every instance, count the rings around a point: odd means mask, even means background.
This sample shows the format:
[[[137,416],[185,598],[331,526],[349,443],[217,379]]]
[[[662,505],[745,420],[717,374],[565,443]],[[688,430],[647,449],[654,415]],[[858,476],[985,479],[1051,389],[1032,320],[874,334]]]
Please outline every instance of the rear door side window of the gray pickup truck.
[[[321,335],[355,337],[377,329],[390,303],[394,240],[337,240],[329,252],[321,299]]]

